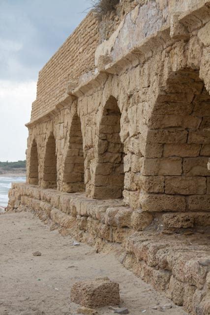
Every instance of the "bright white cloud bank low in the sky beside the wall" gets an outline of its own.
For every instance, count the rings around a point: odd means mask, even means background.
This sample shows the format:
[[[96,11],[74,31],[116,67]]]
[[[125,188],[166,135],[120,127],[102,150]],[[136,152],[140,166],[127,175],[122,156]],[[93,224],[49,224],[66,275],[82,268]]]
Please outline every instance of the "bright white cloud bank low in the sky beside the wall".
[[[0,161],[25,159],[36,82],[0,81]]]

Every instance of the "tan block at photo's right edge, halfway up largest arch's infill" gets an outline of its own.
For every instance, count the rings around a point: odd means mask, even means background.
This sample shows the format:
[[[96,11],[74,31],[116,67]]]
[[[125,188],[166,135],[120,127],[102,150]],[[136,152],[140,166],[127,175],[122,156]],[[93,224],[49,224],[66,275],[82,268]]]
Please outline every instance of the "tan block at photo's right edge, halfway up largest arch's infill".
[[[210,176],[207,163],[208,158],[183,158],[183,174],[185,176]]]

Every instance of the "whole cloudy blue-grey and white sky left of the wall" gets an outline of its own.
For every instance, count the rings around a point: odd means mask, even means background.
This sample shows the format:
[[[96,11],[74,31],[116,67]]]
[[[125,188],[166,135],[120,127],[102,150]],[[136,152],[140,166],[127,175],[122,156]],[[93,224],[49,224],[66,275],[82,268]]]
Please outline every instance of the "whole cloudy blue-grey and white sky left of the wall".
[[[89,7],[90,0],[0,0],[0,161],[25,159],[38,71]]]

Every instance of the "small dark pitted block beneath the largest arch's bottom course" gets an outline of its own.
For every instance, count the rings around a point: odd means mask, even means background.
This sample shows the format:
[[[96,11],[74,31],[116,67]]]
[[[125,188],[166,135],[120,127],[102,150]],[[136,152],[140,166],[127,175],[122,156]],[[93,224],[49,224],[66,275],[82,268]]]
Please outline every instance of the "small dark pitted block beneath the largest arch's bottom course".
[[[187,213],[164,214],[163,224],[169,228],[193,227],[194,218]]]

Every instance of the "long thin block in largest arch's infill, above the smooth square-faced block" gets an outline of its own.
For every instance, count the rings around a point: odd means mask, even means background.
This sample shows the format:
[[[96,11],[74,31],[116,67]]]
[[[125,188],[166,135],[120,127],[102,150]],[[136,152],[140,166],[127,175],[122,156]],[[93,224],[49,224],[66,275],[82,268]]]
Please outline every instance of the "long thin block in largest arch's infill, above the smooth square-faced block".
[[[163,157],[198,157],[201,150],[200,144],[174,143],[165,144]]]

